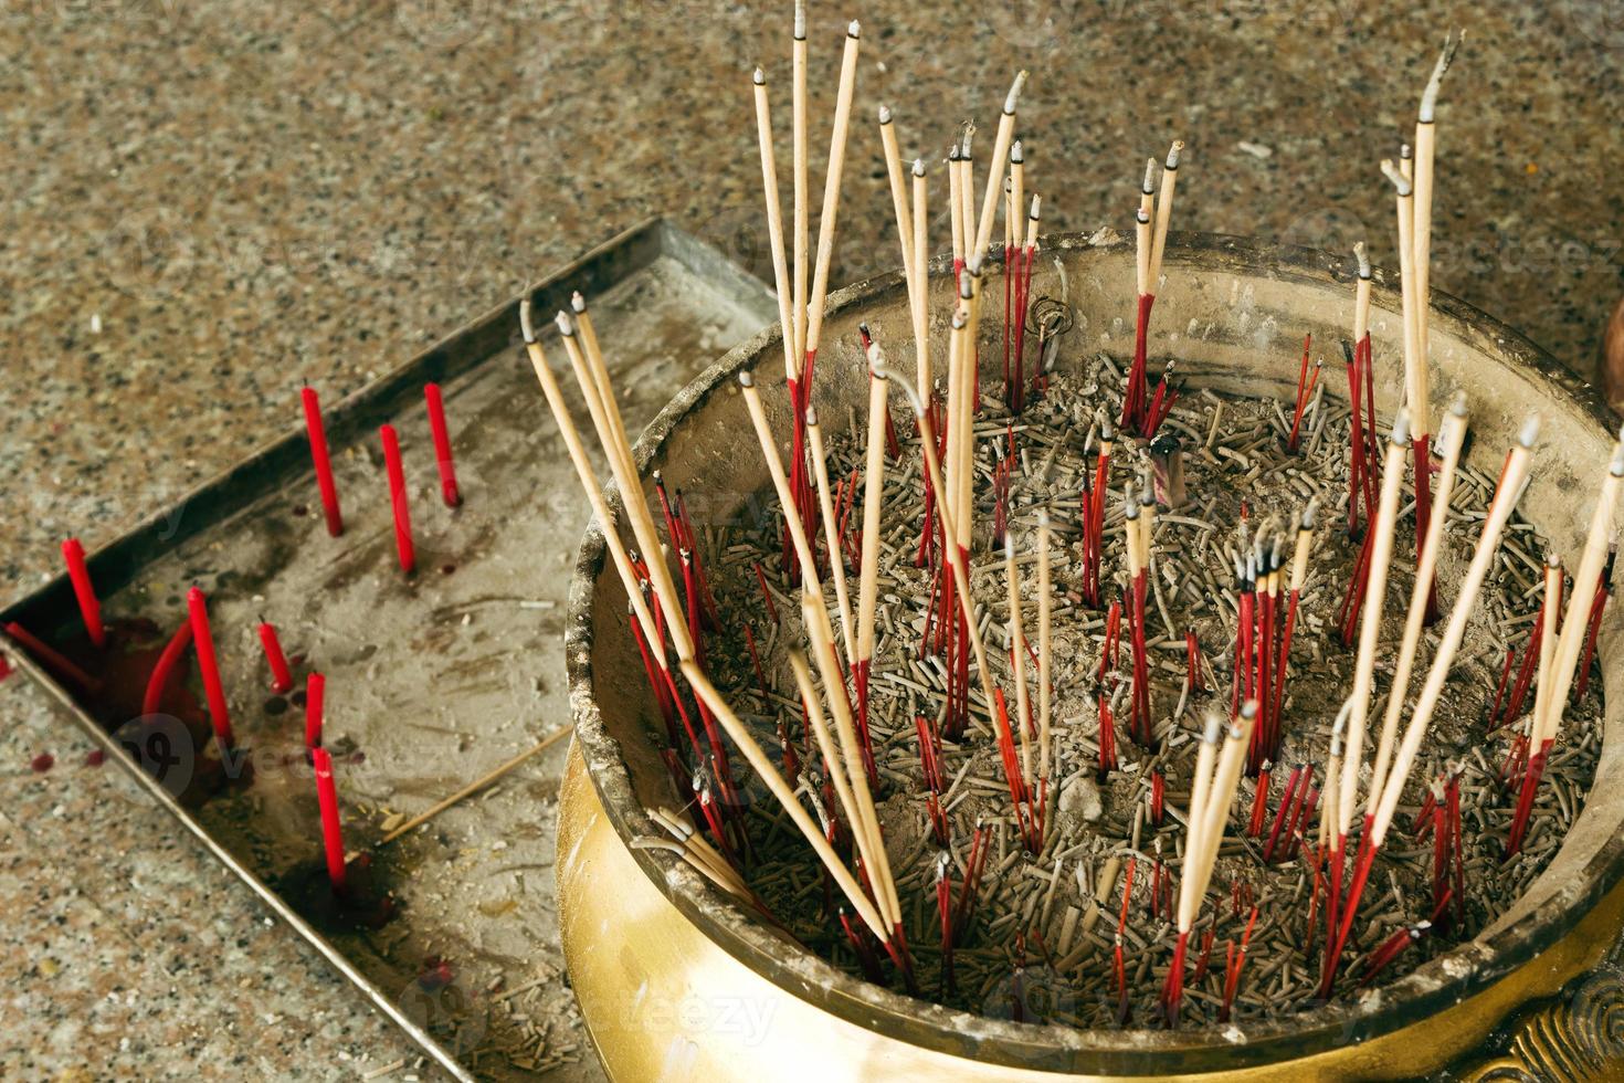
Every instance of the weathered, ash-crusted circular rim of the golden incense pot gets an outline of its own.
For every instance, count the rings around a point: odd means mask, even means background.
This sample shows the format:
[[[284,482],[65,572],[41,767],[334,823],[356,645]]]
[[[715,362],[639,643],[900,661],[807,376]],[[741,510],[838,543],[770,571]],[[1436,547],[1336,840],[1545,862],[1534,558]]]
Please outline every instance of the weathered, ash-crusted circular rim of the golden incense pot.
[[[1039,253],[1041,263],[1036,274],[1044,278],[1046,284],[1059,286],[1054,268],[1057,261],[1064,260],[1073,307],[1080,304],[1080,299],[1093,296],[1096,300],[1103,299],[1109,312],[1132,313],[1134,257],[1130,239],[1111,229],[1101,229],[1095,234],[1052,234],[1043,237]],[[994,261],[999,260],[994,258]],[[1104,276],[1098,273],[1098,268],[1088,266],[1108,261],[1121,261],[1121,273]],[[1298,357],[1286,344],[1291,343],[1293,334],[1296,334],[1294,341],[1301,344],[1301,326],[1270,330],[1272,310],[1267,309],[1260,312],[1263,320],[1249,326],[1250,317],[1259,313],[1255,299],[1259,287],[1301,289],[1304,297],[1293,310],[1301,315],[1304,325],[1312,325],[1315,338],[1327,333],[1337,338],[1351,320],[1354,276],[1351,257],[1335,257],[1312,248],[1249,237],[1174,232],[1168,240],[1166,271],[1166,284],[1158,296],[1158,317],[1161,317],[1163,328],[1177,326],[1179,330],[1173,334],[1166,331],[1153,334],[1153,346],[1164,352],[1179,351],[1181,370],[1197,386],[1213,386],[1218,391],[1241,395],[1250,391],[1255,396],[1260,380],[1268,386],[1280,385],[1283,388],[1296,380]],[[950,263],[944,258],[932,260],[932,291],[940,289],[944,299],[950,289],[948,276]],[[1111,286],[1106,286],[1108,281]],[[895,323],[895,333],[890,334],[893,341],[911,339],[903,309],[903,278],[898,270],[854,283],[830,296],[827,315],[830,333],[825,334],[823,351],[828,359],[820,357],[820,377],[825,372],[830,375],[827,380],[820,380],[822,386],[818,388],[818,395],[830,399],[827,411],[830,417],[844,416],[844,409],[833,408],[836,401],[843,401],[838,390],[851,380],[851,370],[861,369],[854,347],[844,341],[849,338],[844,334],[846,325],[854,326],[861,312],[869,323],[883,323],[888,328]],[[1199,338],[1195,320],[1189,317],[1187,309],[1192,304],[1203,307],[1226,304],[1216,299],[1218,291],[1228,291],[1229,307],[1241,307],[1244,317],[1239,328],[1220,326],[1213,321],[1205,330],[1207,338]],[[896,305],[898,312],[885,313],[883,307],[888,304]],[[1376,268],[1372,305],[1372,339],[1379,344],[1384,357],[1397,357],[1395,331],[1400,325],[1397,271]],[[875,315],[877,309],[882,310],[880,315]],[[1551,409],[1541,408],[1546,430],[1540,443],[1543,455],[1536,471],[1543,472],[1538,472],[1530,482],[1523,513],[1525,518],[1538,521],[1551,534],[1553,544],[1561,552],[1577,554],[1583,524],[1551,521],[1549,515],[1541,515],[1551,508],[1535,498],[1536,490],[1585,492],[1583,487],[1575,489],[1575,485],[1580,481],[1588,485],[1590,477],[1575,468],[1575,460],[1601,461],[1618,419],[1592,385],[1579,380],[1554,357],[1499,320],[1436,289],[1432,291],[1432,312],[1431,367],[1440,401],[1462,386],[1463,370],[1468,365],[1488,360],[1501,369],[1499,372],[1476,372],[1466,377],[1470,382],[1466,390],[1473,398],[1475,448],[1494,448],[1509,442],[1530,401],[1551,403]],[[934,315],[940,317],[939,312]],[[1130,336],[1132,321],[1127,317],[1124,320],[1125,333]],[[1086,341],[1098,343],[1098,328],[1090,328],[1082,317],[1078,325],[1090,336]],[[945,320],[940,318],[932,321],[932,341],[939,333],[945,333]],[[1265,356],[1257,336],[1265,333],[1270,343],[1280,346],[1273,352],[1289,362],[1280,365],[1278,378],[1273,373],[1257,372],[1257,359]],[[767,365],[765,370],[771,372],[771,365],[781,359],[778,339],[776,323],[763,328],[685,386],[637,442],[635,453],[640,472],[646,477],[651,469],[659,468],[666,471],[667,477],[687,477],[692,472],[687,468],[687,460],[667,456],[671,437],[689,422],[700,424],[703,411],[713,404],[716,396],[736,395],[736,380],[741,370]],[[1182,349],[1190,341],[1218,343],[1218,349],[1229,349],[1236,354],[1236,360],[1228,367],[1223,360],[1189,360]],[[1241,360],[1241,354],[1247,360]],[[1203,365],[1207,367],[1203,369]],[[1288,367],[1289,372],[1286,372]],[[1392,412],[1398,393],[1395,369],[1397,365],[1387,365],[1382,383],[1377,386],[1384,416]],[[861,375],[866,378],[866,369],[861,369]],[[1496,377],[1504,380],[1496,380]],[[1531,386],[1518,391],[1517,386],[1512,386],[1517,377]],[[1507,386],[1499,386],[1502,382]],[[831,391],[831,386],[836,390]],[[1479,388],[1488,388],[1488,393],[1478,393]],[[1341,388],[1341,395],[1345,395],[1345,388]],[[1494,409],[1483,409],[1484,406]],[[742,416],[742,403],[737,404],[737,411]],[[788,419],[784,404],[771,401],[770,414],[773,414],[775,427],[784,429]],[[1595,445],[1593,455],[1577,456],[1574,448],[1587,437]],[[716,445],[716,442],[711,443]],[[719,461],[719,458],[731,455],[731,448],[732,442],[724,434],[719,447],[703,450]],[[1588,508],[1579,508],[1575,518],[1580,515],[1588,515]],[[651,749],[638,750],[646,753],[648,770],[640,774],[643,787],[635,786],[627,762],[627,745],[622,739],[627,731],[624,724],[620,731],[611,731],[594,695],[593,651],[598,646],[594,593],[599,580],[609,589],[611,599],[619,599],[617,609],[620,612],[596,612],[596,617],[604,619],[606,627],[620,628],[622,638],[630,641],[622,627],[624,596],[619,583],[612,581],[614,576],[604,575],[607,568],[604,557],[603,534],[593,528],[583,537],[575,563],[565,625],[565,661],[577,747],[609,823],[624,844],[627,838],[635,835],[658,833],[645,817],[643,805],[669,800],[669,794],[654,789],[664,783],[664,766],[659,765]],[[1592,792],[1605,792],[1603,787],[1609,781],[1614,786],[1624,786],[1624,697],[1618,698],[1619,706],[1614,708],[1611,695],[1621,672],[1624,672],[1624,654],[1621,654],[1618,635],[1608,627],[1603,628],[1598,659],[1605,690],[1603,752]],[[627,666],[625,669],[632,672],[635,667]],[[635,685],[632,687],[635,688]],[[640,701],[641,690],[633,690],[630,695],[633,701]],[[637,726],[638,723],[633,719],[630,724]],[[1562,846],[1505,914],[1475,940],[1440,953],[1390,984],[1363,995],[1345,992],[1341,999],[1327,1005],[1280,1020],[1181,1031],[1080,1029],[1065,1025],[1010,1023],[966,1015],[892,992],[835,968],[812,951],[786,951],[783,942],[763,924],[734,906],[672,856],[656,849],[630,849],[630,854],[654,888],[713,945],[758,977],[776,986],[783,994],[898,1042],[947,1055],[970,1057],[989,1068],[1147,1075],[1234,1072],[1247,1067],[1280,1065],[1280,1062],[1302,1057],[1351,1054],[1354,1049],[1359,1049],[1359,1054],[1353,1055],[1369,1057],[1376,1051],[1364,1046],[1366,1042],[1403,1036],[1402,1031],[1434,1021],[1440,1012],[1468,1000],[1462,1010],[1475,1012],[1475,1015],[1453,1013],[1452,1021],[1455,1023],[1465,1023],[1468,1018],[1471,1021],[1470,1026],[1453,1028],[1460,1031],[1460,1036],[1452,1036],[1453,1044],[1447,1044],[1436,1033],[1424,1039],[1437,1051],[1436,1067],[1442,1067],[1476,1044],[1517,1005],[1527,999],[1554,992],[1570,976],[1564,974],[1549,984],[1540,984],[1530,976],[1527,989],[1509,990],[1502,986],[1502,979],[1546,953],[1548,948],[1556,947],[1580,922],[1596,913],[1609,891],[1618,896],[1614,888],[1624,878],[1624,831],[1621,826],[1624,826],[1624,799],[1609,805],[1595,805],[1587,799],[1585,809]],[[560,870],[562,878],[565,874]],[[1600,956],[1605,947],[1598,942],[1593,953]],[[1580,960],[1569,960],[1569,966],[1577,968],[1579,964]],[[1492,990],[1491,995],[1476,1002],[1470,1000],[1486,990]],[[1416,1038],[1421,1036],[1416,1034]],[[1392,1044],[1387,1046],[1392,1047]],[[1309,1065],[1296,1067],[1306,1068]]]

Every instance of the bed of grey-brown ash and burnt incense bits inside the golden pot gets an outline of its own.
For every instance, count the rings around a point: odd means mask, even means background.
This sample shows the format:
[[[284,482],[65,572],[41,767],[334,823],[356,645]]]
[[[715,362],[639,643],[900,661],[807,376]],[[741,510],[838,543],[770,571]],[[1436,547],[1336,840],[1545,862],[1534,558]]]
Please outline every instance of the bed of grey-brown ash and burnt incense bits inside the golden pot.
[[[1047,515],[1056,591],[1051,684],[1057,784],[1047,796],[1047,836],[1038,854],[1023,846],[991,734],[971,727],[957,740],[940,736],[947,677],[940,656],[921,651],[932,583],[918,565],[924,507],[919,456],[905,453],[887,469],[869,732],[880,779],[875,800],[903,898],[919,994],[996,1018],[1075,1026],[1160,1020],[1158,990],[1176,942],[1173,898],[1186,836],[1182,809],[1202,718],[1207,708],[1228,710],[1233,698],[1239,625],[1234,567],[1249,544],[1241,529],[1272,516],[1286,520],[1317,498],[1324,511],[1301,591],[1280,752],[1241,783],[1236,818],[1247,810],[1252,815],[1244,830],[1231,825],[1220,849],[1215,904],[1192,935],[1184,1015],[1187,1025],[1199,1025],[1311,1007],[1319,1002],[1327,885],[1315,835],[1324,779],[1315,773],[1324,771],[1332,721],[1354,667],[1354,651],[1343,645],[1338,622],[1359,549],[1345,511],[1351,424],[1346,403],[1320,398],[1307,408],[1298,453],[1286,448],[1289,403],[1199,391],[1171,408],[1164,432],[1177,434],[1186,448],[1186,495],[1156,516],[1147,632],[1156,739],[1142,747],[1125,727],[1129,656],[1114,651],[1103,658],[1112,623],[1109,599],[1127,598],[1121,490],[1109,495],[1104,516],[1108,598],[1091,607],[1077,589],[1085,580],[1080,520],[1101,438],[1099,411],[1121,406],[1121,369],[1103,354],[1057,369],[1047,393],[1028,401],[1020,416],[1010,416],[1005,403],[991,395],[983,398],[976,463],[986,484],[978,490],[979,534],[970,560],[994,684],[1007,688],[1013,672],[1005,633],[1004,539],[992,534],[1007,521],[1015,552],[1030,565],[1038,516]],[[854,425],[828,443],[828,471],[844,479],[843,490],[861,487],[861,432]],[[1148,461],[1150,450],[1130,451],[1129,461],[1140,458]],[[1492,492],[1492,477],[1466,464],[1458,468],[1437,572],[1445,606]],[[1408,500],[1413,497],[1406,492]],[[773,513],[755,529],[706,531],[705,541],[723,612],[719,623],[729,630],[713,640],[710,666],[736,706],[758,716],[763,745],[778,745],[780,736],[788,739],[801,784],[822,800],[817,753],[802,729],[788,666],[788,649],[801,641],[802,628],[796,591],[781,570],[780,520]],[[1400,555],[1415,552],[1408,523],[1400,524],[1395,549]],[[1400,977],[1494,921],[1538,875],[1579,815],[1600,753],[1600,682],[1585,682],[1593,690],[1569,711],[1566,744],[1544,770],[1549,786],[1536,791],[1520,852],[1505,859],[1518,765],[1505,760],[1517,745],[1504,721],[1525,711],[1533,695],[1520,677],[1533,669],[1525,666],[1530,645],[1538,654],[1533,630],[1543,552],[1535,528],[1514,518],[1445,685],[1427,760],[1415,771],[1400,804],[1400,823],[1376,859],[1343,958],[1343,973],[1351,976],[1348,989]],[[856,563],[854,546],[848,562]],[[1408,596],[1413,559],[1395,559],[1392,570],[1390,598]],[[1034,576],[1026,575],[1023,586],[1030,620]],[[1377,654],[1380,672],[1392,671],[1402,619],[1402,611],[1389,609]],[[1028,666],[1028,680],[1031,671]],[[1117,708],[1108,714],[1117,765],[1103,774],[1101,698],[1108,711],[1112,703]],[[1385,697],[1379,697],[1372,716],[1379,718],[1384,705]],[[945,781],[939,804],[947,838],[927,807],[931,787],[918,718],[926,718],[940,740],[932,768]],[[750,812],[745,823],[754,856],[744,869],[750,888],[804,943],[875,977],[843,932],[838,891],[783,812],[768,802],[754,804]],[[1452,846],[1457,830],[1458,846]],[[1450,867],[1436,872],[1436,862]],[[944,880],[957,926],[952,979],[940,950]],[[1449,895],[1442,913],[1437,880]],[[1125,1005],[1116,974],[1117,945]]]

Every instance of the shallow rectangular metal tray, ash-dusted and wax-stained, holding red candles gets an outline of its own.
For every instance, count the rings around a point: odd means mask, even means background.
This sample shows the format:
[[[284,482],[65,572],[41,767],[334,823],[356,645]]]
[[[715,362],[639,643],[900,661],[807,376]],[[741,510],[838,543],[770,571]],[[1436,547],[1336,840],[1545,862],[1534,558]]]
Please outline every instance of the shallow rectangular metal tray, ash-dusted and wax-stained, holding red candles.
[[[633,432],[715,357],[776,315],[767,286],[664,219],[614,237],[529,292],[539,313],[591,304]],[[554,800],[562,747],[378,851],[398,900],[380,929],[323,916],[317,802],[302,695],[273,697],[255,627],[271,620],[296,688],[326,677],[326,745],[346,844],[533,745],[568,719],[567,589],[585,502],[518,341],[518,299],[468,323],[367,388],[325,403],[344,534],[328,537],[302,424],[172,508],[91,554],[109,620],[148,619],[167,638],[203,586],[252,781],[192,809],[141,768],[73,693],[21,648],[18,666],[175,820],[456,1078],[508,1078],[570,1041],[598,1078],[557,955]],[[555,339],[555,331],[551,331]],[[562,346],[546,341],[562,360]],[[447,508],[422,385],[445,393],[463,505]],[[289,396],[291,419],[299,406]],[[577,416],[585,411],[577,403]],[[401,434],[417,572],[401,573],[377,427]],[[607,477],[603,463],[599,474]],[[47,641],[80,633],[67,576],[0,614]],[[83,635],[83,633],[80,633]],[[195,755],[167,749],[164,755]],[[179,770],[187,770],[182,765]],[[450,963],[438,971],[435,960]],[[541,963],[538,963],[541,960]],[[520,994],[525,1000],[520,1000]],[[538,1003],[536,1000],[547,1003]],[[538,1012],[529,1015],[523,1005]],[[570,1016],[562,1023],[555,1015]],[[560,1034],[559,1028],[564,1028]],[[573,1038],[572,1038],[573,1034]],[[526,1049],[534,1047],[533,1054]],[[557,1078],[557,1077],[555,1077]]]

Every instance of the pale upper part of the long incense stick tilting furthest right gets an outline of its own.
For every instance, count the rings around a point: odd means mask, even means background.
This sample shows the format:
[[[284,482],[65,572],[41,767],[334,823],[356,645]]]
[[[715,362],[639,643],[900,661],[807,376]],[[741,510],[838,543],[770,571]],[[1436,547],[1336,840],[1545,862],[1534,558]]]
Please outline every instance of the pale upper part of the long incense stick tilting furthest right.
[[[1449,669],[1455,662],[1455,651],[1466,633],[1466,620],[1471,617],[1471,609],[1478,601],[1478,591],[1483,589],[1483,580],[1489,573],[1489,565],[1494,563],[1501,533],[1505,529],[1505,523],[1517,507],[1517,498],[1522,495],[1523,482],[1528,479],[1528,460],[1538,429],[1538,419],[1530,417],[1528,424],[1523,425],[1517,447],[1512,448],[1505,461],[1505,472],[1494,490],[1494,503],[1489,505],[1489,513],[1483,521],[1483,534],[1478,537],[1478,547],[1473,550],[1471,563],[1460,581],[1460,594],[1455,598],[1455,607],[1449,614],[1444,636],[1437,645],[1437,653],[1432,656],[1432,667],[1427,671],[1421,695],[1416,697],[1415,711],[1410,714],[1410,726],[1405,729],[1405,739],[1398,745],[1398,755],[1393,758],[1393,770],[1382,783],[1382,800],[1376,810],[1376,823],[1371,833],[1372,846],[1380,846],[1382,839],[1387,838],[1387,828],[1392,826],[1393,812],[1398,809],[1398,799],[1405,789],[1405,779],[1410,778],[1410,771],[1415,768],[1416,755],[1421,752],[1421,740],[1426,737],[1432,711],[1444,695],[1444,682],[1449,679]],[[1590,602],[1587,601],[1585,604],[1588,606]],[[1583,623],[1583,617],[1580,617],[1580,623]]]

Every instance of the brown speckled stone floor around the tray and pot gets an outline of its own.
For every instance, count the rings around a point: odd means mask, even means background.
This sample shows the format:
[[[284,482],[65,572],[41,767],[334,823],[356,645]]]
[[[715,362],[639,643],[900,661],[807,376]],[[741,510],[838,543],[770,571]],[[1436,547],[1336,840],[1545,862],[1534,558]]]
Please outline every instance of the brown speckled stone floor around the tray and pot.
[[[97,546],[531,276],[648,214],[765,270],[749,68],[788,3],[21,0],[0,6],[0,596]],[[814,3],[864,19],[835,281],[893,263],[905,154],[1010,73],[1046,227],[1130,221],[1189,141],[1176,227],[1392,261],[1392,154],[1452,5]],[[1624,19],[1470,8],[1440,110],[1434,286],[1575,370],[1618,299]],[[827,115],[830,93],[817,97]],[[822,132],[822,127],[818,128]],[[822,153],[822,151],[820,151]],[[945,229],[937,231],[945,235]],[[409,1046],[88,750],[0,685],[0,1075],[367,1075]],[[29,760],[50,752],[44,774]],[[409,1068],[409,1064],[408,1064]]]

